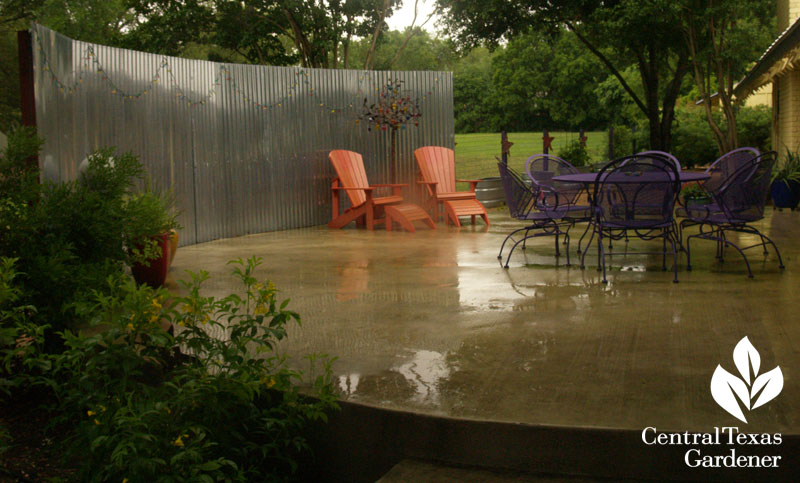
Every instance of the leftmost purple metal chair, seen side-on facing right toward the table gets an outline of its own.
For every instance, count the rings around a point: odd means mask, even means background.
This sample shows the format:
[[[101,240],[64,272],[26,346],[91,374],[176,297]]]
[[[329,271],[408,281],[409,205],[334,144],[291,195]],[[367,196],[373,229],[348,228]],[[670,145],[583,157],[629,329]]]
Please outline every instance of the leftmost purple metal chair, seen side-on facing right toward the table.
[[[508,252],[505,264],[503,264],[505,268],[508,268],[508,261],[511,259],[511,255],[514,253],[514,249],[517,248],[517,245],[521,243],[522,249],[524,250],[525,241],[527,239],[540,236],[555,236],[556,256],[558,257],[561,255],[558,248],[558,236],[564,235],[567,244],[567,266],[569,266],[569,235],[566,231],[562,230],[562,225],[569,223],[563,221],[567,210],[557,208],[558,200],[555,200],[555,207],[552,209],[543,211],[536,210],[536,199],[541,196],[540,190],[536,187],[529,187],[522,180],[520,175],[506,164],[497,163],[497,167],[500,170],[503,192],[506,196],[506,203],[511,212],[511,217],[530,223],[528,226],[514,230],[506,236],[505,240],[503,240],[503,244],[500,246],[500,253],[497,254],[500,263],[502,264],[503,250],[509,240],[511,240],[513,245]],[[557,195],[556,198],[558,198]],[[522,237],[515,238],[515,236],[521,232],[524,232]]]

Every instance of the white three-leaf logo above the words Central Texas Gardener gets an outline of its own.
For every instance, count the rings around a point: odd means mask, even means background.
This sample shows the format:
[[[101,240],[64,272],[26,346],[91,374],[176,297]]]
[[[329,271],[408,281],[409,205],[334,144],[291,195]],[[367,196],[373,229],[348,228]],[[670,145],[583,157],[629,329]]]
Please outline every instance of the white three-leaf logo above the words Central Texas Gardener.
[[[742,379],[726,371],[721,365],[717,365],[714,375],[711,376],[711,395],[722,409],[746,423],[747,418],[739,406],[739,401],[750,411],[773,400],[783,389],[783,373],[781,368],[776,366],[775,369],[759,376],[761,356],[747,337],[742,338],[733,349],[733,363],[742,375]],[[755,403],[752,402],[754,399]]]

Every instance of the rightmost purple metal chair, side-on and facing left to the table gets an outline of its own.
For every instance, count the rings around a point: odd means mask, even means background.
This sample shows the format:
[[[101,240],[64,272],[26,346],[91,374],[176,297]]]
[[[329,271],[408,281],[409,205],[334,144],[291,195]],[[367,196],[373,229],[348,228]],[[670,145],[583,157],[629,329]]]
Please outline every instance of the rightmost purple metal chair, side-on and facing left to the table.
[[[719,189],[712,192],[711,205],[689,205],[686,207],[689,219],[700,225],[700,233],[686,238],[686,269],[692,269],[690,242],[692,238],[714,240],[717,242],[717,258],[724,261],[725,248],[731,246],[742,255],[747,274],[753,278],[750,262],[744,251],[761,246],[767,255],[767,243],[775,249],[778,266],[783,269],[783,259],[775,243],[750,224],[764,218],[764,205],[769,194],[772,168],[777,161],[777,153],[769,151],[751,157],[738,166],[727,178],[719,183]],[[740,247],[728,239],[731,232],[757,235],[761,243]]]

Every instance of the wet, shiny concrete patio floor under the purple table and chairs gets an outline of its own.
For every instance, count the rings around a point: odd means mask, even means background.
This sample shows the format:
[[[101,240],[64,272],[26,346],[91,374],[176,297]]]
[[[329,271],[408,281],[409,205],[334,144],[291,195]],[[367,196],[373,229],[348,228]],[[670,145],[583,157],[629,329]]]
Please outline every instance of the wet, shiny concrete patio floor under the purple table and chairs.
[[[756,226],[778,244],[786,270],[753,249],[753,279],[735,251],[714,260],[707,241],[692,244],[691,272],[681,255],[678,284],[659,255],[630,255],[613,258],[604,285],[594,250],[581,270],[573,240],[567,267],[550,237],[517,250],[504,269],[500,244],[521,225],[499,211],[488,229],[323,226],[183,247],[171,277],[207,270],[206,293],[222,296],[238,290],[228,260],[262,257],[260,277],[302,316],[281,351],[300,368],[302,355],[336,356],[345,401],[570,427],[799,434],[800,213],[767,211]],[[778,365],[785,380],[778,397],[745,411],[747,425],[709,391],[718,364],[738,374],[732,354],[745,336],[761,372]]]

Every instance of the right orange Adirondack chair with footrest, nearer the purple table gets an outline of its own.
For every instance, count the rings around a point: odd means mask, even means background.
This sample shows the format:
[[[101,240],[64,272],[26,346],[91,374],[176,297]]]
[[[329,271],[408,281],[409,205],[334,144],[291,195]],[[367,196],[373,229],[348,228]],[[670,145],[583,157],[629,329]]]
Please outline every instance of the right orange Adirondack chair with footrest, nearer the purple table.
[[[441,146],[425,146],[414,151],[417,158],[420,177],[428,191],[426,208],[439,219],[440,205],[444,205],[447,221],[461,226],[459,216],[471,216],[475,224],[475,216],[483,218],[489,225],[486,208],[475,197],[475,186],[479,180],[456,179],[455,154],[452,149]],[[469,191],[456,191],[456,182],[469,183]]]

